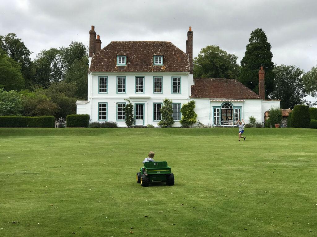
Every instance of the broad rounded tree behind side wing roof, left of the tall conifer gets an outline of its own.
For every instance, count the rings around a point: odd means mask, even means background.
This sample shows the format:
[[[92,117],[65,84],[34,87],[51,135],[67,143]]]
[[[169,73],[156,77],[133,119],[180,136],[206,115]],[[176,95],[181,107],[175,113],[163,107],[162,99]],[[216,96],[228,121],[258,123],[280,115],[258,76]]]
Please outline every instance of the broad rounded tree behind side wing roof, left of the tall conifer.
[[[227,53],[217,45],[206,46],[194,58],[194,77],[237,78],[237,59],[234,53]]]

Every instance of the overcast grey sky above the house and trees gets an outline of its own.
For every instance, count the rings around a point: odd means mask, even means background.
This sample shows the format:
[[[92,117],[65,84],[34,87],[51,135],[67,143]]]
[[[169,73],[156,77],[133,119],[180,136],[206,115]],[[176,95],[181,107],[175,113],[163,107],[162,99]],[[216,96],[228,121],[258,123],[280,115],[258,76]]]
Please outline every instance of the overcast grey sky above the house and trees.
[[[262,28],[276,64],[294,64],[307,71],[317,64],[317,1],[315,0],[10,0],[0,1],[0,35],[16,33],[31,57],[43,49],[89,43],[95,26],[101,47],[110,41],[171,41],[185,51],[192,26],[193,54],[219,45],[242,59],[250,33]]]

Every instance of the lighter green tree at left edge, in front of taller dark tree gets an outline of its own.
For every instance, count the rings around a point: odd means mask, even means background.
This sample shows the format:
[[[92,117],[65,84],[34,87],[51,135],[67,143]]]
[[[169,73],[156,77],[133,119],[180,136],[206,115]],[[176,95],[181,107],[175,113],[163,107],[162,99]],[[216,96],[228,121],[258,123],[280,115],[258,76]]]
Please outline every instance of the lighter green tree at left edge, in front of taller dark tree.
[[[5,90],[21,90],[24,87],[24,79],[21,74],[21,66],[0,49],[0,87]]]

